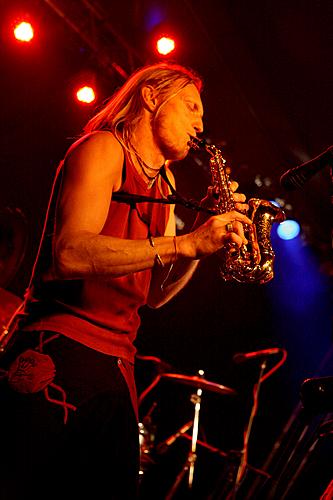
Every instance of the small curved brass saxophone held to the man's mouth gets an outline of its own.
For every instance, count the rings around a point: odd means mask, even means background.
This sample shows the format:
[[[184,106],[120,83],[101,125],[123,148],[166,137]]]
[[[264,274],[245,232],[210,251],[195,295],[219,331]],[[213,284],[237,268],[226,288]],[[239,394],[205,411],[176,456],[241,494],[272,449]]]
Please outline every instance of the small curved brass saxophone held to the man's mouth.
[[[210,155],[212,186],[219,196],[216,213],[235,210],[229,176],[226,172],[226,160],[220,148],[197,138],[192,138],[189,146],[195,150],[205,149]],[[232,243],[226,245],[219,252],[220,272],[225,281],[264,284],[274,277],[275,254],[270,242],[272,225],[274,222],[283,222],[286,216],[280,207],[267,200],[251,198],[248,200],[248,205],[247,216],[253,223],[244,227],[248,244],[242,245],[241,248]]]

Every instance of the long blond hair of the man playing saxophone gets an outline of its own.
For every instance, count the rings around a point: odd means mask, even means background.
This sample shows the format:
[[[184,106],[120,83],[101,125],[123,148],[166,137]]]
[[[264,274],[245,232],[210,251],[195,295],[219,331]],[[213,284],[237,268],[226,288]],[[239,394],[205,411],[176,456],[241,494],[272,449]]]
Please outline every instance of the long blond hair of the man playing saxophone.
[[[157,63],[139,68],[89,120],[84,132],[88,134],[96,130],[110,130],[128,149],[132,130],[140,120],[143,109],[142,87],[151,85],[154,88],[160,98],[160,108],[190,83],[201,92],[201,77],[192,69],[178,64]]]

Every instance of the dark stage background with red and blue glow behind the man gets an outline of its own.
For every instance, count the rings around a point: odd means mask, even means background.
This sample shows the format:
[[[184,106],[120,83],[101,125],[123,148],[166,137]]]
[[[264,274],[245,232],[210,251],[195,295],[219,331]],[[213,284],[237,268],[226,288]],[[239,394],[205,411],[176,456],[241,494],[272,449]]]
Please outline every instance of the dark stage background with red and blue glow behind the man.
[[[97,88],[97,105],[102,104],[126,74],[159,60],[152,43],[160,31],[169,30],[178,40],[172,60],[203,76],[205,136],[223,147],[240,191],[249,198],[278,199],[286,215],[301,224],[302,232],[293,242],[278,240],[274,226],[271,283],[225,283],[212,257],[200,264],[191,283],[172,302],[158,310],[142,310],[137,339],[142,356],[155,356],[180,374],[195,375],[202,369],[207,380],[237,391],[235,397],[205,391],[202,398],[199,437],[228,452],[228,459],[200,448],[194,494],[208,498],[216,490],[223,497],[228,484],[224,474],[233,463],[229,452],[242,448],[260,369],[258,360],[236,365],[233,355],[269,347],[288,352],[287,361],[261,387],[249,441],[249,463],[257,468],[272,458],[272,447],[288,420],[292,426],[301,421],[303,381],[333,375],[331,167],[327,165],[296,191],[286,192],[279,183],[286,170],[333,144],[333,4],[329,0],[0,0],[0,14],[0,215],[4,240],[11,228],[19,233],[13,245],[16,263],[5,261],[12,272],[4,272],[3,289],[23,297],[55,168],[96,109],[96,103],[82,106],[75,101],[77,86],[84,78],[90,80]],[[36,23],[29,45],[17,44],[10,33],[11,23],[22,15]],[[207,158],[191,153],[174,166],[174,173],[185,197],[204,196],[210,182]],[[189,230],[195,214],[180,207],[177,215],[185,224],[180,232]],[[279,359],[271,356],[267,369]],[[139,392],[159,369],[153,361],[138,361]],[[151,415],[156,442],[193,418],[192,392],[189,386],[162,380],[145,398],[142,419],[156,403]],[[292,473],[280,479],[278,498],[299,494],[297,468],[318,436],[321,419],[329,416],[320,410],[319,417],[315,412],[310,419],[300,458],[293,465],[288,462]],[[315,447],[315,460],[306,459],[300,466],[299,482],[307,498],[318,498],[331,479],[328,443],[325,435]],[[282,443],[281,457],[288,446]],[[288,456],[290,450],[298,452],[295,444],[290,446]],[[144,497],[165,495],[188,449],[184,439],[163,456],[153,448],[155,463],[144,476]],[[286,457],[281,461],[286,463]],[[279,470],[281,465],[276,466],[276,478]],[[294,489],[286,493],[291,484],[288,474],[296,479]],[[244,496],[259,476],[250,472]],[[179,494],[186,496],[184,486]]]

